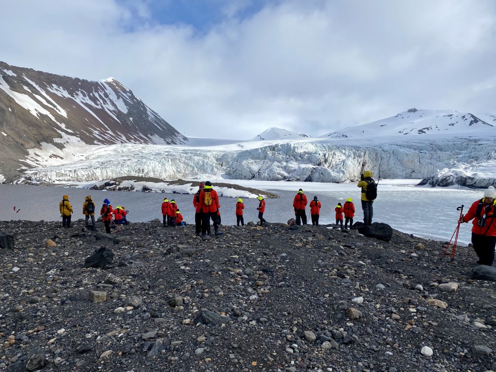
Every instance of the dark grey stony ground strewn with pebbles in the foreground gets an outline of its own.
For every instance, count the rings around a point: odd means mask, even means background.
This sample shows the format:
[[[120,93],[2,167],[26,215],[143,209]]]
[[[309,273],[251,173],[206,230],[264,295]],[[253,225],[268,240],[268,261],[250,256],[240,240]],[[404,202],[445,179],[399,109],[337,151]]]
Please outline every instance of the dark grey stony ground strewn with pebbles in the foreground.
[[[83,225],[0,222],[15,243],[0,249],[0,369],[496,370],[494,271],[472,248],[450,262],[398,231]],[[112,263],[85,268],[102,247]]]

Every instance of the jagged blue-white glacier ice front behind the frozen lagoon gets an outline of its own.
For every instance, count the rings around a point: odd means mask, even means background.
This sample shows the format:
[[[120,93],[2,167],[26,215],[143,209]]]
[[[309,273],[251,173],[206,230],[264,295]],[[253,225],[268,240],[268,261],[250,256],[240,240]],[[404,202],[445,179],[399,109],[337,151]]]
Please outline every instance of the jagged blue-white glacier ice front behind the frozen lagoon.
[[[139,176],[343,183],[358,180],[368,169],[376,178],[487,187],[495,179],[484,175],[496,164],[492,137],[411,137],[402,143],[393,136],[366,141],[305,138],[198,147],[115,144],[88,146],[79,159],[69,156],[70,146],[59,151],[56,157],[50,157],[50,151],[31,153],[34,168],[24,171],[25,180],[64,183]],[[467,177],[479,181],[466,182]]]

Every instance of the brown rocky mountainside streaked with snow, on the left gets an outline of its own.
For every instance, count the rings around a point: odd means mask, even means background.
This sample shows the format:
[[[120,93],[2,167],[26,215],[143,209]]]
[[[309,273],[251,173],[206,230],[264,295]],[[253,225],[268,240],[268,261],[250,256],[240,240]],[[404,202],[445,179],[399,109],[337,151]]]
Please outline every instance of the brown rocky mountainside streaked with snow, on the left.
[[[77,139],[86,144],[188,140],[113,78],[89,81],[0,62],[0,174],[7,180],[18,175],[27,165],[27,149],[42,143],[63,148]]]

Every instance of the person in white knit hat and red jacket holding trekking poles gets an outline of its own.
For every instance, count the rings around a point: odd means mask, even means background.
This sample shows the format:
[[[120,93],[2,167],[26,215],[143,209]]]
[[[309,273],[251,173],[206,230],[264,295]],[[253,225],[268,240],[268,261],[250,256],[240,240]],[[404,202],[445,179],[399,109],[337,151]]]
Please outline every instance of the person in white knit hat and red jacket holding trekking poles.
[[[458,223],[472,223],[472,245],[479,257],[480,265],[493,266],[496,247],[496,205],[495,188],[489,186],[481,200],[476,200],[470,206],[467,214]]]

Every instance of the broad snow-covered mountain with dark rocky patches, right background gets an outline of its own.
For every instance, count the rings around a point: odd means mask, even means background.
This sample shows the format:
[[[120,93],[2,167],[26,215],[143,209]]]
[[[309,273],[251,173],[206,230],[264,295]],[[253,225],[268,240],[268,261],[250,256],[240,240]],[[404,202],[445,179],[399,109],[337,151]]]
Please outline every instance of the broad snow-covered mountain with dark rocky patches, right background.
[[[489,114],[486,116],[491,118]],[[323,137],[371,138],[415,134],[484,135],[488,132],[495,135],[496,123],[491,124],[472,114],[458,111],[410,109],[373,123],[349,126]]]

